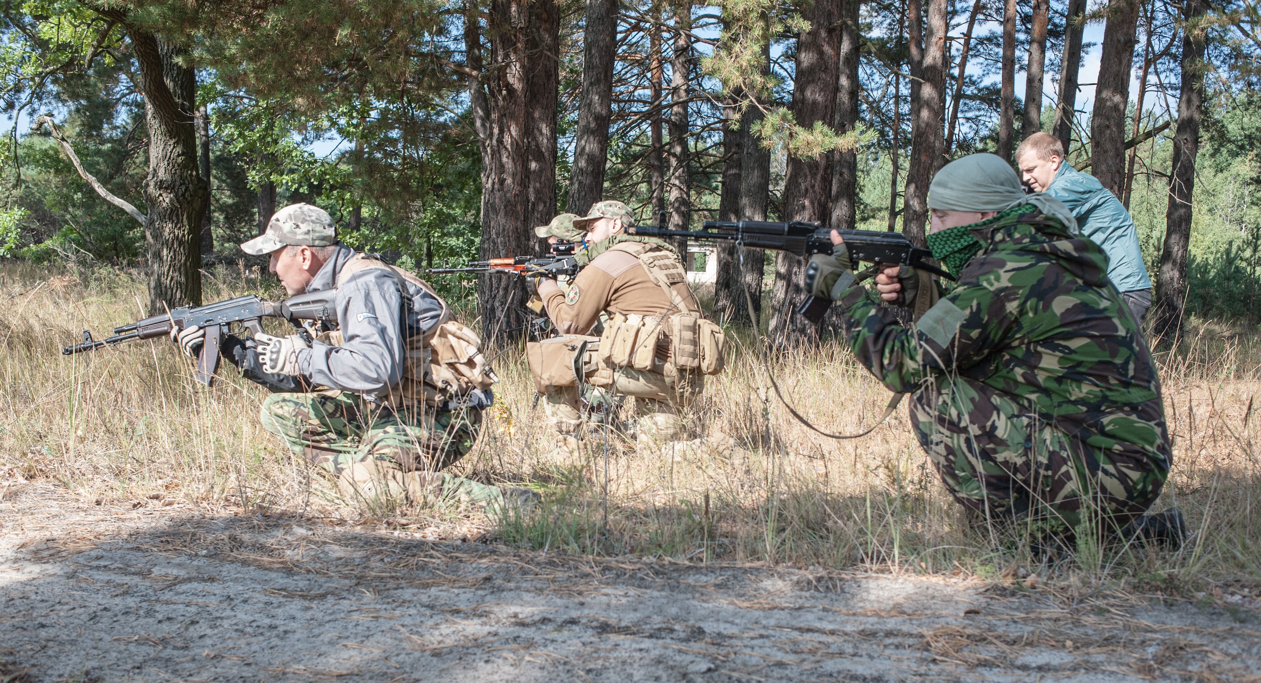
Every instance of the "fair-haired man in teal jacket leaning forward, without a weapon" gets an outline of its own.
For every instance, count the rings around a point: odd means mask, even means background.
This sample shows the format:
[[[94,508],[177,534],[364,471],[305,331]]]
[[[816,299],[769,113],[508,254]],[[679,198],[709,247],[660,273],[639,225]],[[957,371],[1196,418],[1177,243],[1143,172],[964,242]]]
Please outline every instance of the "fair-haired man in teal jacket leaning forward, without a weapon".
[[[1141,324],[1151,306],[1151,280],[1130,212],[1093,175],[1069,166],[1064,147],[1052,135],[1035,132],[1026,137],[1016,147],[1016,165],[1025,185],[1063,202],[1082,234],[1103,248],[1107,277]]]

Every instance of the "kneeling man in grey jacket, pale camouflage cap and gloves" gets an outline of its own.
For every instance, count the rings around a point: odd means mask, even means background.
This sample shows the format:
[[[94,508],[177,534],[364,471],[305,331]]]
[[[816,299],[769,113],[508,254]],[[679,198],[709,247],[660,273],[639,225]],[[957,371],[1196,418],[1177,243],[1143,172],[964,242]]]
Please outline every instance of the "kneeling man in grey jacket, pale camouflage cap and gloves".
[[[223,355],[246,378],[277,392],[260,412],[267,431],[334,475],[348,499],[504,502],[496,486],[440,471],[473,449],[482,410],[493,402],[489,388],[429,401],[401,391],[419,355],[409,350],[445,323],[445,301],[410,273],[338,242],[333,218],[309,204],[280,209],[241,248],[269,255],[291,296],[337,290],[335,329],[223,343]],[[204,330],[189,328],[178,343],[195,357],[203,338]]]

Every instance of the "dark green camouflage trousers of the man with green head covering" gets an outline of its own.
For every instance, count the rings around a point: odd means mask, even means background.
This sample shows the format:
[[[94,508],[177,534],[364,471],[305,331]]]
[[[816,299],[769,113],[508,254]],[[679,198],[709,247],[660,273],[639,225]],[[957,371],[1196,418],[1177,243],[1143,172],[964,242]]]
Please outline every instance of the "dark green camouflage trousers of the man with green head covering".
[[[1163,456],[1101,437],[1084,422],[1043,421],[980,382],[938,382],[948,386],[912,394],[910,423],[946,488],[968,510],[991,519],[1031,514],[1068,528],[1093,510],[1120,528],[1160,495],[1169,474]],[[1146,408],[1117,408],[1103,422],[1132,426],[1160,415],[1159,406]]]

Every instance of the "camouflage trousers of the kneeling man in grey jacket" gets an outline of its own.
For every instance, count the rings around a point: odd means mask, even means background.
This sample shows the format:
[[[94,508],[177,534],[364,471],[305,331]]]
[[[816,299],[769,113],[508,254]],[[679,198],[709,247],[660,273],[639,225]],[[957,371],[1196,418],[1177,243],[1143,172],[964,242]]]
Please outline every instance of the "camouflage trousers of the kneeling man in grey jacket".
[[[409,495],[501,502],[496,486],[440,471],[473,450],[482,411],[419,408],[392,410],[351,392],[274,393],[264,399],[259,418],[291,451],[338,478],[343,494],[363,495],[371,481],[378,489],[398,489],[398,490]]]

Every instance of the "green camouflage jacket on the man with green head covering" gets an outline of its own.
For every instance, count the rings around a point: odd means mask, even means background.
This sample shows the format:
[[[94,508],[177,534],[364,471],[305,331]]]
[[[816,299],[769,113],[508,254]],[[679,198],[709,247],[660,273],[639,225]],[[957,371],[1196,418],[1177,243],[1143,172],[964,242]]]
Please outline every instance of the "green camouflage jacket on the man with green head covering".
[[[915,325],[863,286],[834,290],[859,362],[895,392],[979,382],[1084,445],[1136,446],[1168,470],[1160,381],[1103,251],[1031,205],[970,231],[980,252]]]

